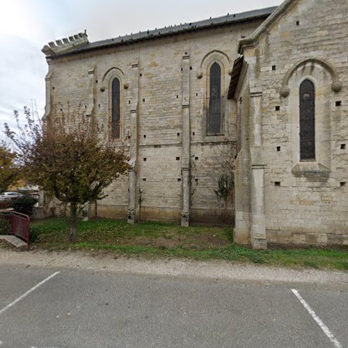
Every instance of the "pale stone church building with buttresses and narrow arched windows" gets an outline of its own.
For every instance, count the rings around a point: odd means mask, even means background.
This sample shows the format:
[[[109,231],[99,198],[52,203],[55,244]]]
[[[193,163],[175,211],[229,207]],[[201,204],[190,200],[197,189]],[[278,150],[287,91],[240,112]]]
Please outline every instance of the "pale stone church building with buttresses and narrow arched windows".
[[[348,244],[347,13],[347,0],[285,0],[49,42],[45,118],[81,105],[129,145],[134,171],[98,214],[228,223],[254,248]]]

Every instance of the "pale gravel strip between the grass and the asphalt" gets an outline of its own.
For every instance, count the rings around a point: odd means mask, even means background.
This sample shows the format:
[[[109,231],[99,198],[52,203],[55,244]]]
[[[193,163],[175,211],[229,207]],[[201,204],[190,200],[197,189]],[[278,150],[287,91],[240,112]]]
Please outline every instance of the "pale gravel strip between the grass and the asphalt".
[[[0,265],[88,269],[125,274],[171,276],[185,278],[219,278],[257,283],[294,283],[348,287],[348,272],[317,269],[286,269],[226,261],[194,261],[185,259],[143,259],[118,257],[110,253],[83,251],[12,251],[0,249]]]

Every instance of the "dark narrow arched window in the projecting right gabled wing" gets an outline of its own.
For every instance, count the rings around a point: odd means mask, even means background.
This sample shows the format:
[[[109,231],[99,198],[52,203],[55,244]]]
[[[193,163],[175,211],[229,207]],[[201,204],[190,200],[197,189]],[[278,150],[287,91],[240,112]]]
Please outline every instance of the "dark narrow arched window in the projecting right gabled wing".
[[[315,88],[306,79],[300,85],[300,158],[315,159]]]

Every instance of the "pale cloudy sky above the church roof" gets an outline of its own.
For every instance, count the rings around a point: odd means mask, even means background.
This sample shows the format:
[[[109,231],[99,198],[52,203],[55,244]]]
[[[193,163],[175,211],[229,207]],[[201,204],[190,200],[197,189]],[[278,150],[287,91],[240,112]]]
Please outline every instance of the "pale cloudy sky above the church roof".
[[[0,0],[0,139],[13,110],[45,109],[49,41],[86,29],[90,42],[196,22],[227,13],[278,6],[281,0]]]

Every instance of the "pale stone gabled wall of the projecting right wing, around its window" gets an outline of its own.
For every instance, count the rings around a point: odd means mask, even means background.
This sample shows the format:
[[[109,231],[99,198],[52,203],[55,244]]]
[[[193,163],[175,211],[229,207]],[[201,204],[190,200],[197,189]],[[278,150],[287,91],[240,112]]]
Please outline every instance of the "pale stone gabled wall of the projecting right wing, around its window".
[[[244,49],[250,84],[262,91],[255,132],[269,242],[348,244],[347,11],[346,0],[292,1],[258,45]],[[315,85],[315,161],[299,156],[304,79]]]

